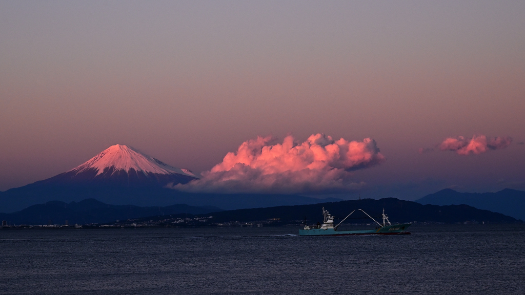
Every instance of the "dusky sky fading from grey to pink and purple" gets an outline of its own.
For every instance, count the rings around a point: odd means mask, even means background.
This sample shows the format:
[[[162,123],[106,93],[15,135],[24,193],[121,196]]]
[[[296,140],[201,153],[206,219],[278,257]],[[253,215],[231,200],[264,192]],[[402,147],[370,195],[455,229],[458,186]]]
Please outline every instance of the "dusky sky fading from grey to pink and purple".
[[[257,135],[314,133],[376,141],[363,197],[525,190],[524,16],[523,1],[2,1],[0,191],[117,143],[200,173]],[[436,148],[474,134],[513,142]]]

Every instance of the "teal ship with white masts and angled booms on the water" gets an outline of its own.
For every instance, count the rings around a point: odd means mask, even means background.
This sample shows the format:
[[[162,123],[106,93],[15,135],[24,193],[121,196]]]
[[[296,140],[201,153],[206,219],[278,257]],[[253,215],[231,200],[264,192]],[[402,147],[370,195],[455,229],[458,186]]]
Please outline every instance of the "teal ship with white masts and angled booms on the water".
[[[323,207],[323,217],[324,221],[323,224],[317,224],[314,226],[308,226],[305,222],[304,228],[299,229],[299,236],[345,236],[345,235],[409,235],[406,230],[407,227],[409,227],[411,224],[394,224],[392,225],[390,221],[388,221],[388,216],[385,214],[385,209],[383,209],[383,224],[380,224],[377,222],[372,216],[368,215],[366,212],[364,212],[362,209],[358,209],[366,216],[370,217],[376,224],[379,225],[379,227],[375,229],[369,229],[369,230],[337,230],[338,226],[341,225],[346,218],[350,217],[352,213],[355,212],[353,210],[348,216],[346,216],[341,222],[334,226],[334,216],[332,216],[330,213],[328,213],[328,210],[325,210]]]

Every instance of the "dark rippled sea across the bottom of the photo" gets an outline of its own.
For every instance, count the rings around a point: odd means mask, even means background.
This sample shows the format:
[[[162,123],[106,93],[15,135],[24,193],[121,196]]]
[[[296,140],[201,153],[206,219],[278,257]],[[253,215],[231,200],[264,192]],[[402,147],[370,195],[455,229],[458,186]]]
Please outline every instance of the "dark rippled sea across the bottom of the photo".
[[[0,294],[525,294],[524,225],[0,230]]]

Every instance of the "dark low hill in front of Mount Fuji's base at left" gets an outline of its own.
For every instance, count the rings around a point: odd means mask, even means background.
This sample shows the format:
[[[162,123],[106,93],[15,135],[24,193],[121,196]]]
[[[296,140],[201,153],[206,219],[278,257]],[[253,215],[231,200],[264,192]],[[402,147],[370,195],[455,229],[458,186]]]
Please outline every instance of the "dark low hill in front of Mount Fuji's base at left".
[[[109,205],[96,199],[85,199],[69,204],[51,201],[45,204],[33,205],[16,213],[0,213],[0,219],[11,224],[65,224],[69,225],[114,222],[117,219],[127,220],[152,215],[170,214],[206,214],[222,209],[213,206],[188,206],[177,204],[166,207],[138,207],[134,205]]]

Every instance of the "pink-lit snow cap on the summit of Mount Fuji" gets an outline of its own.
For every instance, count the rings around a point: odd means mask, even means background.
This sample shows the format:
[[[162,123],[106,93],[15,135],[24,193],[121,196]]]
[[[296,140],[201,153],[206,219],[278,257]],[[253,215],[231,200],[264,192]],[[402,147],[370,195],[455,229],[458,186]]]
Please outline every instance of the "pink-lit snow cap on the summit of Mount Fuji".
[[[78,174],[82,171],[96,169],[97,175],[99,175],[102,174],[104,170],[109,170],[111,167],[113,167],[113,173],[118,170],[128,172],[133,169],[137,172],[143,172],[144,174],[177,173],[197,177],[190,170],[175,168],[164,164],[153,157],[130,148],[130,146],[121,144],[110,146],[108,149],[92,157],[89,161],[70,171]]]

